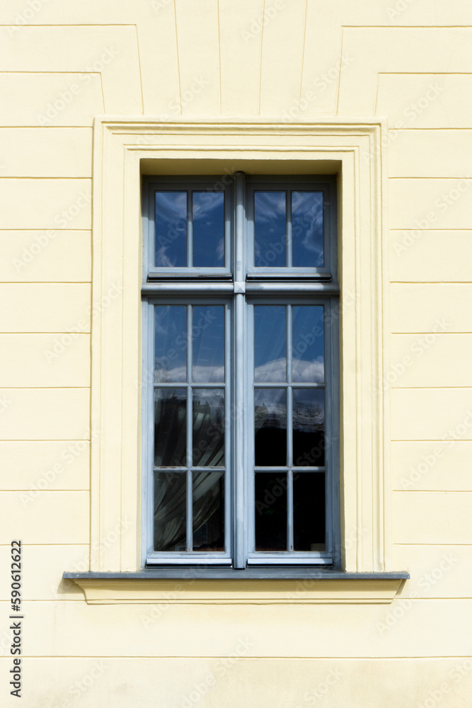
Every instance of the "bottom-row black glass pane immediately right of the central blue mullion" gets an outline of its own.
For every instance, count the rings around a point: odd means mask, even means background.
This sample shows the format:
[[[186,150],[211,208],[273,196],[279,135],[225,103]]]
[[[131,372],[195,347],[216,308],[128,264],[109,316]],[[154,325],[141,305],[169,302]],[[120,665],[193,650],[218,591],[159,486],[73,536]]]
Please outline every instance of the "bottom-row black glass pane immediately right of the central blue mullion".
[[[255,550],[287,550],[287,474],[256,472]]]

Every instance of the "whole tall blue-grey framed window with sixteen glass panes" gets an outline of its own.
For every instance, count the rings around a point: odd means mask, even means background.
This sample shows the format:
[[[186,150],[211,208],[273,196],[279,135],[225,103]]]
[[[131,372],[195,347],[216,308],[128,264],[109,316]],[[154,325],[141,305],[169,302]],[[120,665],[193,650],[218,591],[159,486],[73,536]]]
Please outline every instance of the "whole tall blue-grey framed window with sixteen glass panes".
[[[340,564],[333,177],[144,183],[146,563]]]

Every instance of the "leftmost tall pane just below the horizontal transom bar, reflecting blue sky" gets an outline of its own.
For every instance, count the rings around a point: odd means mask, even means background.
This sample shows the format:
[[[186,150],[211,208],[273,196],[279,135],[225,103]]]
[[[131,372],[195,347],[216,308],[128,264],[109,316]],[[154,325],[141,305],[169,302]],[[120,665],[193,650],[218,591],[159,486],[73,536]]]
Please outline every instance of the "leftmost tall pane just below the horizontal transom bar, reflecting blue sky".
[[[187,380],[187,308],[154,307],[154,383]]]

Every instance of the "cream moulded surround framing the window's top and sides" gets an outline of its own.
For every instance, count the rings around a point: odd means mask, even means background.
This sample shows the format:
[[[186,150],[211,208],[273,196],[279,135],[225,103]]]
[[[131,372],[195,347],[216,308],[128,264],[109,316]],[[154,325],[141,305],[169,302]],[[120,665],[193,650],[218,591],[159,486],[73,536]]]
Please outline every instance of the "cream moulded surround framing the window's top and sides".
[[[225,166],[249,163],[260,173],[339,175],[342,566],[351,572],[391,569],[388,401],[378,383],[388,331],[385,130],[379,119],[96,119],[91,571],[141,567],[141,174],[224,173]],[[162,292],[166,285],[160,283]],[[113,287],[121,297],[112,299]],[[120,521],[122,530],[111,542]]]

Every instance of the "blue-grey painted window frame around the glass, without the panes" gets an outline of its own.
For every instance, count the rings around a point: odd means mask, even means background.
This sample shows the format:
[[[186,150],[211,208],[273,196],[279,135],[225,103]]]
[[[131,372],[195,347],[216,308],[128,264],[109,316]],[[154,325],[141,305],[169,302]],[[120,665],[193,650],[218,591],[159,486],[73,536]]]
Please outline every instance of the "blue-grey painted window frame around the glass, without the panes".
[[[144,258],[143,258],[143,552],[142,562],[147,566],[229,565],[235,569],[248,566],[333,566],[340,567],[339,514],[339,318],[337,277],[336,185],[333,176],[246,176],[236,173],[224,188],[225,194],[225,268],[155,268],[154,194],[156,190],[188,190],[188,210],[192,189],[212,190],[221,176],[185,178],[144,178]],[[232,184],[234,182],[234,184]],[[323,193],[323,266],[319,268],[255,268],[253,200],[255,190],[285,190],[290,205],[291,190],[315,190]],[[191,219],[191,214],[190,217]],[[291,258],[290,212],[287,212],[287,256]],[[190,263],[191,222],[188,229],[187,257]],[[232,270],[232,273],[230,273]],[[231,282],[228,278],[231,277]],[[198,280],[196,281],[195,278]],[[270,280],[268,280],[270,278]],[[161,288],[173,299],[163,297]],[[193,285],[192,285],[193,282]],[[226,493],[225,526],[226,552],[154,552],[153,539],[153,481],[152,460],[154,440],[154,305],[156,304],[221,304],[231,289],[231,331],[229,341],[229,312],[226,312]],[[213,300],[203,300],[206,294]],[[188,295],[185,298],[185,294]],[[228,301],[226,300],[226,303]],[[324,478],[326,480],[326,551],[325,552],[255,552],[254,549],[254,469],[253,458],[253,306],[260,304],[322,304],[326,370],[326,433],[330,444],[326,447]],[[289,309],[291,312],[291,309]],[[288,334],[287,334],[288,336]],[[231,351],[229,348],[231,346]],[[234,389],[229,386],[229,367]],[[254,383],[254,385],[253,385]],[[178,387],[180,384],[175,384]],[[182,384],[185,385],[185,384]],[[290,387],[292,384],[289,384]],[[297,384],[294,384],[297,387]],[[231,409],[231,396],[234,409]],[[238,411],[231,416],[230,411]],[[189,418],[189,416],[188,416]],[[232,421],[232,424],[229,423]],[[190,423],[189,423],[190,424]],[[290,448],[290,433],[287,444]],[[232,450],[232,452],[231,452]],[[301,468],[304,469],[304,468]],[[180,473],[182,474],[182,473]],[[300,472],[303,474],[303,472]],[[190,475],[190,479],[189,479]],[[187,473],[190,485],[191,472]],[[287,469],[288,508],[292,508],[292,471]],[[188,486],[190,490],[190,486]],[[188,491],[188,493],[190,493]],[[188,501],[188,503],[190,503]],[[291,515],[289,512],[289,528]],[[189,523],[188,523],[189,526]]]

